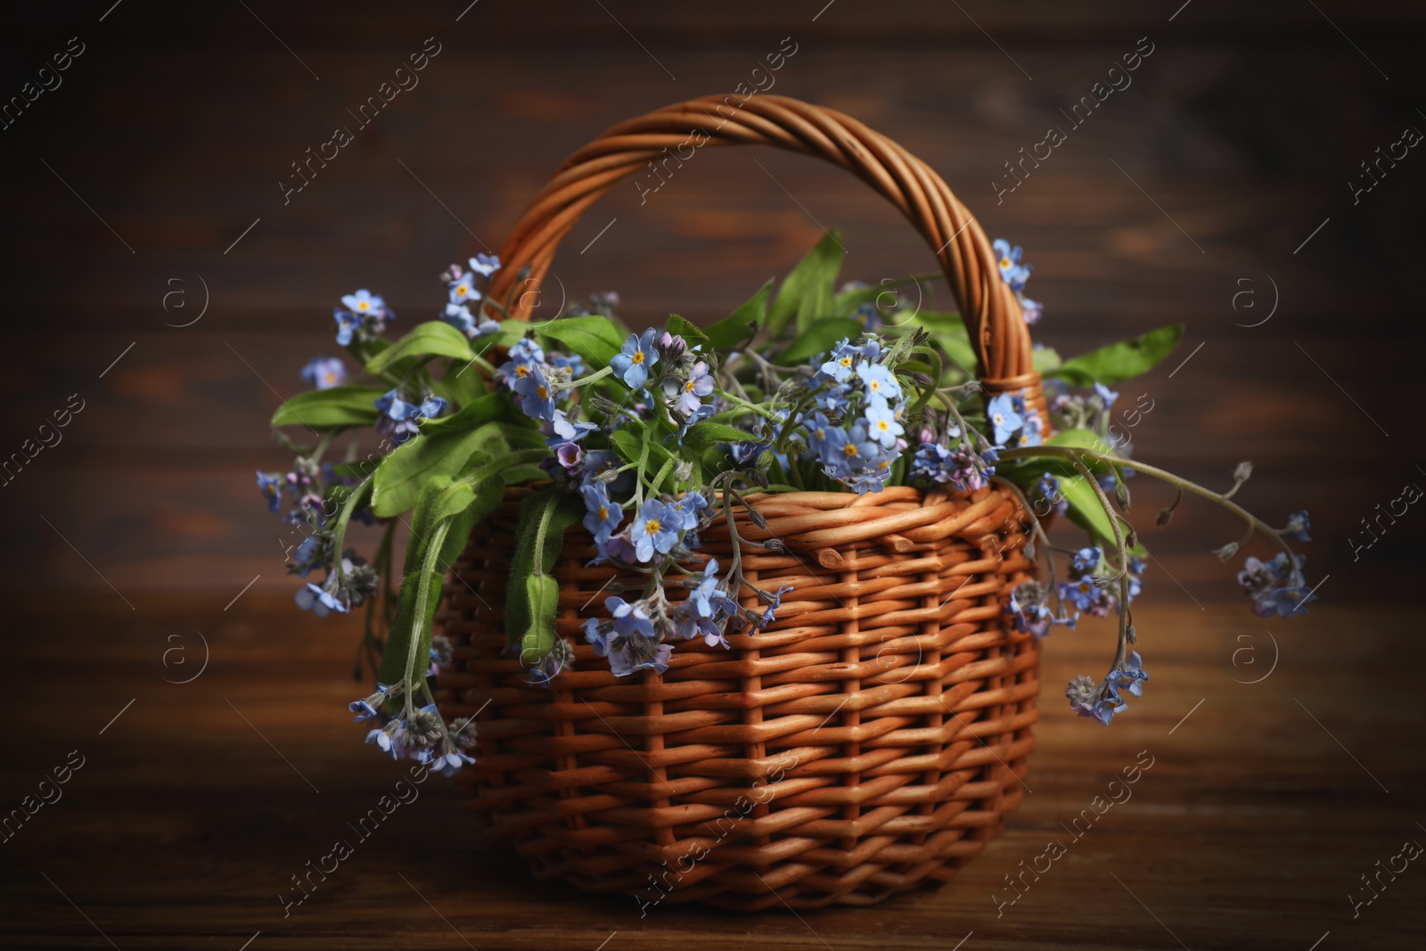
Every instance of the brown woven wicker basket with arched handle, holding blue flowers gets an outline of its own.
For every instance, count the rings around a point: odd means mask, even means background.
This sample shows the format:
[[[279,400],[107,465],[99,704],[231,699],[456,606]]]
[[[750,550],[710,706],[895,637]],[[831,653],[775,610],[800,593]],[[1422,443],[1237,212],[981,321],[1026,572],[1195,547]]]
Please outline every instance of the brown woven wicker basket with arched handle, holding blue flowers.
[[[501,250],[491,295],[515,289],[525,265],[536,288],[590,202],[692,134],[777,145],[854,171],[906,212],[937,250],[987,392],[1024,391],[1044,419],[1020,308],[940,177],[840,113],[730,103],[662,108],[575,153]],[[593,540],[575,526],[555,573],[576,660],[549,690],[505,650],[520,495],[479,526],[446,585],[438,623],[455,663],[438,701],[448,716],[479,711],[478,763],[458,780],[536,877],[646,905],[873,904],[950,878],[1018,806],[1040,682],[1034,637],[1004,617],[1007,592],[1034,572],[1011,492],[756,499],[767,530],[740,513],[739,532],[787,552],[744,550],[744,567],[764,587],[791,586],[777,620],[730,637],[732,650],[679,643],[666,673],[623,679],[580,636],[617,573],[585,566]],[[714,525],[703,550],[724,559]]]

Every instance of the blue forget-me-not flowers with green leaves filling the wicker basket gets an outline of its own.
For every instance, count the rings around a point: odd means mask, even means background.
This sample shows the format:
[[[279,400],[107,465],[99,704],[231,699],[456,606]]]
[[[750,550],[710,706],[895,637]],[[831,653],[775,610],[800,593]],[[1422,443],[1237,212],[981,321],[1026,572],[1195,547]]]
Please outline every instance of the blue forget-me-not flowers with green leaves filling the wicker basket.
[[[1040,304],[1024,295],[1031,267],[1021,248],[995,241],[994,250],[1024,319],[1038,321]],[[318,616],[365,609],[358,656],[376,686],[351,710],[372,723],[368,743],[448,774],[471,761],[473,723],[446,723],[432,700],[428,679],[451,662],[432,619],[448,569],[508,486],[530,489],[505,617],[508,647],[533,684],[548,686],[573,657],[556,634],[552,570],[576,522],[593,538],[592,563],[639,579],[606,586],[602,609],[583,622],[585,640],[615,674],[666,670],[680,640],[726,647],[730,632],[769,624],[789,589],[746,577],[740,552],[783,546],[740,538],[733,518],[742,509],[766,528],[756,500],[767,493],[1011,488],[1032,538],[1027,555],[1044,559],[1045,582],[1018,585],[1007,620],[1042,637],[1085,613],[1118,615],[1109,672],[1075,677],[1065,692],[1077,713],[1104,724],[1148,680],[1134,649],[1145,550],[1125,518],[1129,476],[1178,489],[1158,513],[1161,526],[1185,492],[1241,516],[1246,533],[1216,552],[1224,562],[1255,532],[1278,546],[1272,560],[1248,557],[1238,575],[1255,612],[1291,617],[1315,600],[1303,556],[1289,546],[1306,540],[1306,512],[1272,528],[1232,502],[1251,463],[1215,492],[1129,458],[1111,388],[1164,359],[1181,327],[1072,359],[1037,346],[1047,408],[1022,392],[985,399],[960,317],[910,301],[913,287],[924,297],[930,277],[838,287],[840,265],[841,245],[829,234],[776,295],[769,281],[706,328],[677,315],[662,328],[627,328],[615,317],[615,294],[545,322],[506,319],[511,301],[483,294],[501,267],[488,255],[451,265],[438,319],[394,342],[385,331],[395,314],[381,297],[361,289],[342,298],[337,342],[361,376],[347,382],[341,358],[302,369],[315,389],[272,418],[279,442],[297,453],[292,471],[260,472],[258,486],[305,536],[289,549],[289,570],[325,573],[305,582],[297,603]],[[299,445],[282,428],[305,429],[315,442]],[[359,435],[366,429],[375,433],[369,448]],[[1087,543],[1051,545],[1045,522],[1055,515],[1082,528]],[[732,533],[727,563],[700,555],[714,519]],[[347,548],[352,520],[382,528],[369,560]],[[398,525],[408,529],[399,583]],[[1058,582],[1057,555],[1068,573]],[[364,676],[361,659],[355,676]]]

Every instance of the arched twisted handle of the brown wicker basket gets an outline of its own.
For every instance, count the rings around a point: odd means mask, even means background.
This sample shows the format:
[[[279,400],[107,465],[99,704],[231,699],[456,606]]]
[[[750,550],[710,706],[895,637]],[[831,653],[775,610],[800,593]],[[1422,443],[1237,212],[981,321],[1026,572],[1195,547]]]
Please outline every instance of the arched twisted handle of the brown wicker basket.
[[[776,145],[824,158],[854,173],[901,210],[945,272],[977,355],[977,376],[990,394],[1025,391],[1048,432],[1040,374],[1031,364],[1030,331],[1015,295],[1000,279],[990,241],[951,190],[925,163],[857,120],[784,96],[706,96],[620,123],[565,160],[501,247],[503,267],[488,297],[512,297],[511,317],[529,319],[532,292],[560,240],[585,208],[660,157],[682,148]],[[686,155],[683,157],[687,158]],[[529,272],[520,278],[522,268]],[[538,298],[536,298],[538,299]]]

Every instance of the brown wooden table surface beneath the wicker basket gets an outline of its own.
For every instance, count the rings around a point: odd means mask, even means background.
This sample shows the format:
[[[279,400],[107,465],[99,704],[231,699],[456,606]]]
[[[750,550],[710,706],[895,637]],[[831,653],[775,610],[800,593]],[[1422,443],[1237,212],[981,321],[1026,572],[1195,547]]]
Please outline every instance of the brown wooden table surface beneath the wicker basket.
[[[1426,938],[1426,868],[1383,874],[1355,918],[1348,898],[1378,860],[1426,843],[1420,687],[1402,673],[1426,649],[1410,610],[1339,602],[1263,624],[1239,602],[1198,609],[1164,580],[1137,617],[1152,679],[1109,729],[1060,697],[1102,667],[1108,629],[1048,639],[1030,793],[945,887],[858,910],[640,917],[632,900],[532,881],[441,777],[358,840],[348,823],[404,768],[349,723],[351,623],[260,592],[225,610],[227,597],[21,609],[7,808],[54,767],[83,766],[4,844],[4,947],[1333,951]],[[1062,823],[1137,760],[1152,766],[1132,797],[1074,840]],[[338,838],[355,854],[284,917],[278,894],[295,895],[291,875]],[[1004,877],[1051,840],[1067,855],[997,914]]]

